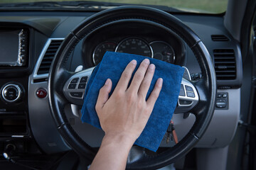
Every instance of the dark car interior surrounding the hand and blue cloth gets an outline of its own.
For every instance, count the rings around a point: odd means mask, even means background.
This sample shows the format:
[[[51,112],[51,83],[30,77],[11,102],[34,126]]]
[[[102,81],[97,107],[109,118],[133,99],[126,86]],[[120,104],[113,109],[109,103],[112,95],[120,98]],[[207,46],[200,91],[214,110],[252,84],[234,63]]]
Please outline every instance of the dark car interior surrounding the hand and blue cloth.
[[[185,69],[176,135],[134,145],[127,169],[256,169],[256,1],[189,3],[0,1],[0,169],[90,168],[105,134],[81,108],[107,51]]]

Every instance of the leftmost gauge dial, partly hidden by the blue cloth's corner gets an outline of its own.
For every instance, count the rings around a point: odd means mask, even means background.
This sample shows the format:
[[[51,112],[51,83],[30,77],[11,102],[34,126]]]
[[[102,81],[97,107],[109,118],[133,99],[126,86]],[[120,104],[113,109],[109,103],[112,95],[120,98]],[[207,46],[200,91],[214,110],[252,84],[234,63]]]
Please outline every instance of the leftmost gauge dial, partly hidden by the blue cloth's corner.
[[[95,65],[99,64],[102,60],[102,57],[105,55],[105,52],[113,52],[117,44],[115,42],[102,42],[100,45],[95,47],[95,50],[92,55],[92,60]]]

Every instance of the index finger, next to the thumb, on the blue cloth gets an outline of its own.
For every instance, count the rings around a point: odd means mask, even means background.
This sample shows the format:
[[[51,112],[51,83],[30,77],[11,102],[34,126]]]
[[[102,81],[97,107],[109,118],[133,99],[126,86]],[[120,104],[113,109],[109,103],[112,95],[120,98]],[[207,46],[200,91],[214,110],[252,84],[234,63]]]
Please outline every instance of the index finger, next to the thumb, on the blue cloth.
[[[127,64],[127,67],[124,69],[124,72],[122,72],[122,75],[114,90],[123,90],[123,91],[127,90],[129,80],[132,77],[132,73],[134,72],[136,65],[137,65],[136,60],[132,60],[131,62],[129,62],[129,64]]]

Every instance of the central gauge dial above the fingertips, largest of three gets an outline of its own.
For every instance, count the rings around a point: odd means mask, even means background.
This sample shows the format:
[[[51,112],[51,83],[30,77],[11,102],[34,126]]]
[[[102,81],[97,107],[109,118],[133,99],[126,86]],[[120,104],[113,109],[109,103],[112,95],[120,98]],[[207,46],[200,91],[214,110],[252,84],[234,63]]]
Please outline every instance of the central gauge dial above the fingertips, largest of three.
[[[117,45],[116,52],[125,52],[134,55],[143,55],[145,57],[152,57],[151,47],[139,38],[127,38],[122,40]]]

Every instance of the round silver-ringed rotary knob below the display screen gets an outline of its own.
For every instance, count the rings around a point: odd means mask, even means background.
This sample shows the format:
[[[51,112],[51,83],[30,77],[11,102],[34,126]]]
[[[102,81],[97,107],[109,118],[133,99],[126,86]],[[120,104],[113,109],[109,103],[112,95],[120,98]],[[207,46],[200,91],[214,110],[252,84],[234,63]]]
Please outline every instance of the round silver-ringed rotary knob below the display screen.
[[[4,89],[2,91],[2,97],[5,101],[9,103],[13,103],[15,101],[18,101],[19,98],[21,98],[21,88],[16,84],[7,84],[4,86]]]

